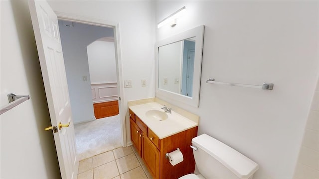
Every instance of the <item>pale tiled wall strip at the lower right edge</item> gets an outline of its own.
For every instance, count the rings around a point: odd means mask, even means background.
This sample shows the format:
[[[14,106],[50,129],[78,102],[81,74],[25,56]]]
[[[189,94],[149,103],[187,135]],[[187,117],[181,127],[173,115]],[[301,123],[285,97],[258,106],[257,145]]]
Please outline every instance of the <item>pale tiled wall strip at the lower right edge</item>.
[[[305,127],[303,142],[300,147],[295,179],[319,178],[319,81],[314,92]]]

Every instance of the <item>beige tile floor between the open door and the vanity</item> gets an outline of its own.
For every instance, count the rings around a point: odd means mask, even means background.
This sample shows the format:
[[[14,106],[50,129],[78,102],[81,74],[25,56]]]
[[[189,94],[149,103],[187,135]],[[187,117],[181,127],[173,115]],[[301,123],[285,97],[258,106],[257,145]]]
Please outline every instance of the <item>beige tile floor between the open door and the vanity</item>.
[[[153,179],[133,146],[80,161],[78,179]]]

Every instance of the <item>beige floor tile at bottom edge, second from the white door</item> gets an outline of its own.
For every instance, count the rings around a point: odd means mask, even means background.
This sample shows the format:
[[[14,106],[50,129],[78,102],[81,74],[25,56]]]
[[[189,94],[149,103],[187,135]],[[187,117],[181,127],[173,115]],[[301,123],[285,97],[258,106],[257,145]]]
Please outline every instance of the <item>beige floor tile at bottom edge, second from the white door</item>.
[[[93,173],[95,179],[112,179],[119,175],[115,161],[94,168]]]

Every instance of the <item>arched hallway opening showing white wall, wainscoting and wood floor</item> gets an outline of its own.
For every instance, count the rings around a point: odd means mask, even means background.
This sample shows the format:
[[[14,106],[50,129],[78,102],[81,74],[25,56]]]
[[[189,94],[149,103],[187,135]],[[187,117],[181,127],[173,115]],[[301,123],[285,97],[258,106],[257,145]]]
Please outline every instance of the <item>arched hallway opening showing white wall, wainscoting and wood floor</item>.
[[[114,38],[113,36],[99,38],[86,48],[94,116],[96,119],[116,116],[119,114],[119,96]]]

